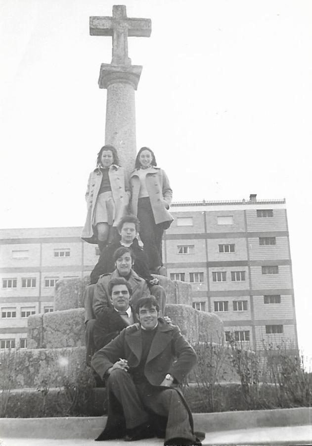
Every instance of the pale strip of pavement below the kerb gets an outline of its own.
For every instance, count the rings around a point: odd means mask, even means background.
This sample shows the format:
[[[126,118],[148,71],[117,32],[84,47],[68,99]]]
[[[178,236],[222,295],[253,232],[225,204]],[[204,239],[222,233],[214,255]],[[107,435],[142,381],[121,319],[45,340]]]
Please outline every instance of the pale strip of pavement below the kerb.
[[[100,445],[101,443],[96,443]],[[109,446],[125,446],[122,440],[112,440],[103,442]],[[138,446],[161,446],[163,440],[149,439],[128,443]],[[0,440],[0,446],[90,446],[95,445],[94,440],[74,439],[74,440],[50,440],[50,439],[21,439],[4,438]],[[270,427],[260,429],[238,429],[234,431],[210,432],[206,434],[203,446],[287,446],[287,445],[312,445],[312,425],[311,426],[289,426]]]

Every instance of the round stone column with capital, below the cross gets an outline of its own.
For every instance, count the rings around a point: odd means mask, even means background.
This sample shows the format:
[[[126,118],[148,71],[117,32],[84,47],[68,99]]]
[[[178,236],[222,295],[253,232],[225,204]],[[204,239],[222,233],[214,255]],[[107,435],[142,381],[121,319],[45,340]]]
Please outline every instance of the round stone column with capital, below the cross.
[[[134,90],[140,78],[139,65],[102,63],[98,85],[107,89],[105,144],[116,147],[121,166],[134,169],[136,156]]]

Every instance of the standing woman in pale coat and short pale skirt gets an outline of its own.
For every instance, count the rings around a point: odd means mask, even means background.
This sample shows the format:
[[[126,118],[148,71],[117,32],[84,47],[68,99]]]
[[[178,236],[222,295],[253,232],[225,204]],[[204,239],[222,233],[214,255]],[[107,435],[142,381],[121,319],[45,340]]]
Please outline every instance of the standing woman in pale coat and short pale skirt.
[[[115,147],[105,145],[97,154],[86,192],[87,219],[82,239],[97,243],[102,251],[112,241],[114,228],[127,213],[130,184],[126,170],[119,166]]]

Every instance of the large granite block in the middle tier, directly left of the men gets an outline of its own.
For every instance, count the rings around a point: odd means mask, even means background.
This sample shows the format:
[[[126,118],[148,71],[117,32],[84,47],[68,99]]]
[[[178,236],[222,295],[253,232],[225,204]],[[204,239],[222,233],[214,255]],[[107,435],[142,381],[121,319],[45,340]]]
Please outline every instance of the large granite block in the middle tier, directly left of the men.
[[[54,311],[44,315],[46,348],[80,347],[85,345],[85,309]]]

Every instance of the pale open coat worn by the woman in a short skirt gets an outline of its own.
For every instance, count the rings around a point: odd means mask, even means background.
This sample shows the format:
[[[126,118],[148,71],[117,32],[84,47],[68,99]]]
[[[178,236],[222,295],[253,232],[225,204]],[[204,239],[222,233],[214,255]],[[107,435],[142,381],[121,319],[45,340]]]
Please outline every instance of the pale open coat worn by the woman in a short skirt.
[[[86,200],[87,200],[87,219],[82,231],[82,239],[89,243],[97,243],[94,227],[92,226],[96,199],[102,182],[101,169],[96,167],[89,175]],[[113,164],[108,171],[109,181],[112,189],[112,196],[115,203],[116,213],[113,226],[117,226],[122,217],[127,214],[127,208],[130,201],[131,188],[129,176],[123,167]]]

